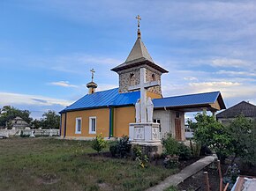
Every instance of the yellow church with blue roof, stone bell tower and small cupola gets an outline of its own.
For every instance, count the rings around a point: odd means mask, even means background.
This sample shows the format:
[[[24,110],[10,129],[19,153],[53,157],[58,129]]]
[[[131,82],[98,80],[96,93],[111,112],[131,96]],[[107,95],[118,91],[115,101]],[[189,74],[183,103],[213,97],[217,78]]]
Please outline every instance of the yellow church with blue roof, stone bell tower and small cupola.
[[[94,70],[91,70],[92,81],[87,84],[87,95],[60,112],[61,137],[90,139],[101,133],[106,138],[129,136],[129,123],[135,122],[135,104],[140,99],[139,84],[145,84],[147,97],[152,99],[153,119],[160,123],[161,137],[171,134],[178,141],[184,141],[184,113],[206,110],[215,114],[226,108],[221,92],[162,98],[161,77],[168,70],[156,64],[149,55],[141,40],[139,17],[132,51],[124,63],[111,70],[119,76],[119,87],[97,92]]]

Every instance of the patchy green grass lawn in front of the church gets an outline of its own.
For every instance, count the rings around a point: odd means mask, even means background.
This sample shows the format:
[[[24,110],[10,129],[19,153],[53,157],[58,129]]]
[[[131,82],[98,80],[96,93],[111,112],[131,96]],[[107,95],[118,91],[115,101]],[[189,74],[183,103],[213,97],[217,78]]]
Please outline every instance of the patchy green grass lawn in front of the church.
[[[0,190],[145,190],[177,170],[131,159],[93,157],[88,141],[0,140]]]

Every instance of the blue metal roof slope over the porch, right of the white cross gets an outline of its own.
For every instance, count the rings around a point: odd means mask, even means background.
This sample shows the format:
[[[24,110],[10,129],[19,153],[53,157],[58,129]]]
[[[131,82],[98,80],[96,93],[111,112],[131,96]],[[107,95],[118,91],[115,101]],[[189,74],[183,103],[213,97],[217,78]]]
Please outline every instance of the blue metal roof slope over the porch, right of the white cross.
[[[221,92],[206,92],[191,95],[153,99],[154,108],[157,107],[184,107],[192,105],[212,104],[218,99]]]

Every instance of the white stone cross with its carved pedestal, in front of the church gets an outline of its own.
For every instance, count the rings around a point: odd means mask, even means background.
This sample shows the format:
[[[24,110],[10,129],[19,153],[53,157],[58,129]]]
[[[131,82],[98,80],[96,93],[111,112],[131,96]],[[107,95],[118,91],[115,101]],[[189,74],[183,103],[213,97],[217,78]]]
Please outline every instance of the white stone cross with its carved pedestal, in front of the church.
[[[129,90],[140,90],[140,121],[129,124],[129,140],[131,143],[139,144],[143,153],[154,157],[154,154],[162,154],[162,143],[160,140],[159,123],[149,122],[147,119],[147,88],[160,85],[159,81],[146,82],[146,69],[140,69],[140,84],[129,87]],[[137,113],[138,111],[136,111]]]

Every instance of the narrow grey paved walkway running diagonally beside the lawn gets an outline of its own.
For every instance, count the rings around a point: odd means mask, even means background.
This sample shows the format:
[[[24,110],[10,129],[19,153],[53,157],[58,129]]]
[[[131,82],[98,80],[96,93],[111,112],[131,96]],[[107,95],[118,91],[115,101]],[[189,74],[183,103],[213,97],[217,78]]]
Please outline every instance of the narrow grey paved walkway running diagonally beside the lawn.
[[[193,174],[198,173],[204,167],[214,162],[215,158],[215,156],[207,156],[205,158],[201,158],[192,165],[185,167],[181,172],[169,176],[154,187],[148,188],[147,191],[162,191],[170,186],[177,186],[179,183],[183,182]]]

